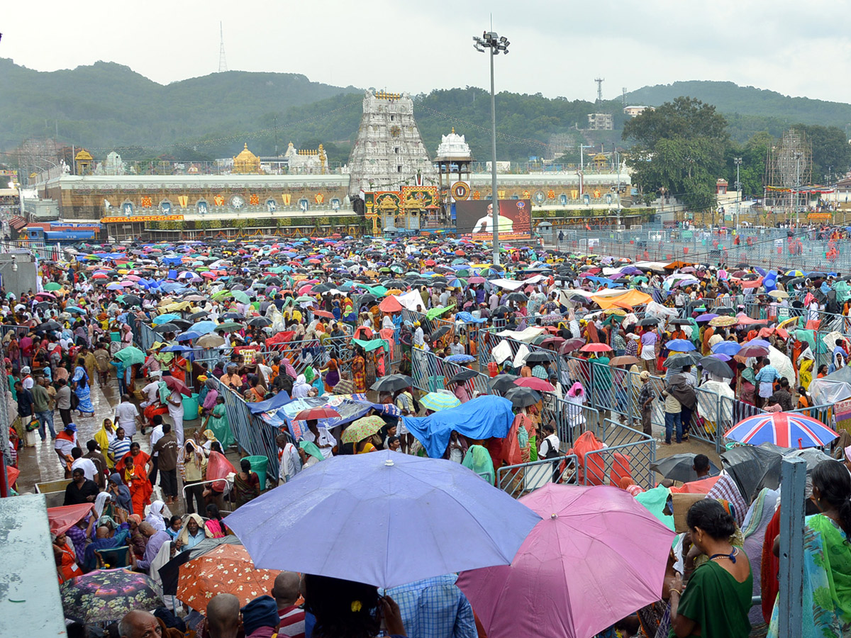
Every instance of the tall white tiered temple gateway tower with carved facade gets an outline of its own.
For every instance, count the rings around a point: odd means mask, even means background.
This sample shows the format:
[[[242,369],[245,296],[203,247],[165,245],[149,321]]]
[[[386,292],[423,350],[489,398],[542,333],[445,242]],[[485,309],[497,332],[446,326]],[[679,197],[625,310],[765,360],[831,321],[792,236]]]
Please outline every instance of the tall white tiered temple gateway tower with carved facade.
[[[349,170],[351,197],[360,191],[397,191],[417,181],[437,185],[437,169],[420,138],[408,94],[366,92]]]

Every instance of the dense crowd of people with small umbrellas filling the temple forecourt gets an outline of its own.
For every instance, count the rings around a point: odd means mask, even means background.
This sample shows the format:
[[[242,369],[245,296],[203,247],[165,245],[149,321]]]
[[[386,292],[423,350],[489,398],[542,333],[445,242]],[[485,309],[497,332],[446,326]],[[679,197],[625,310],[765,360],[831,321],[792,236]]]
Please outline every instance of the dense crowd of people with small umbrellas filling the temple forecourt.
[[[554,481],[613,485],[648,509],[652,493],[660,516],[676,514],[675,496],[691,481],[639,486],[628,471],[558,467],[565,453],[581,458],[605,445],[583,406],[635,418],[663,446],[751,414],[814,408],[824,416],[810,386],[851,353],[851,288],[841,273],[631,264],[540,248],[511,248],[505,266],[486,262],[477,244],[425,239],[90,248],[70,263],[41,264],[37,292],[0,291],[18,416],[7,470],[26,456],[25,444],[47,445],[50,436],[70,479],[63,505],[91,506],[54,534],[60,583],[126,567],[162,588],[166,562],[232,536],[228,512],[311,466],[380,450],[426,456],[405,419],[474,400],[483,386],[471,379],[486,369],[489,392],[512,403],[508,435],[453,431],[440,456],[500,488],[500,467],[551,460]],[[422,370],[441,385],[422,391]],[[96,416],[94,392],[115,397],[108,414]],[[707,393],[729,402],[729,422],[701,402]],[[248,455],[228,405],[284,394],[346,397],[366,406],[359,419],[377,420],[352,439],[349,423],[305,419],[295,429],[298,419],[287,419],[271,435],[277,481],[265,481],[266,466],[241,458]],[[187,398],[197,401],[197,419],[186,418]],[[87,436],[78,438],[81,430]],[[825,457],[810,472],[802,548],[808,618],[837,635],[851,635],[847,438],[843,430],[825,446],[838,460]],[[742,493],[726,472],[707,476],[704,459],[695,461],[694,483],[707,498],[677,530],[659,600],[601,635],[776,629],[778,486]],[[126,557],[117,552],[124,547]],[[127,638],[484,635],[454,578],[383,591],[281,572],[268,595],[247,604],[218,594],[202,613],[163,595],[156,612],[130,611],[107,630]],[[751,608],[754,593],[762,608]]]

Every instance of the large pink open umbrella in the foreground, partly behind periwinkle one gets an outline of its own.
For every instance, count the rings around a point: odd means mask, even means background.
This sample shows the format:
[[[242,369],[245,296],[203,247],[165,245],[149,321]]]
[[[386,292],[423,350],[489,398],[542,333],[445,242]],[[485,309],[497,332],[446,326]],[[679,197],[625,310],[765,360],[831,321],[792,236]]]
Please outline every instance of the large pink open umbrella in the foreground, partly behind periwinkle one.
[[[659,600],[676,534],[629,493],[549,483],[519,500],[543,520],[511,565],[458,578],[488,638],[586,638]]]

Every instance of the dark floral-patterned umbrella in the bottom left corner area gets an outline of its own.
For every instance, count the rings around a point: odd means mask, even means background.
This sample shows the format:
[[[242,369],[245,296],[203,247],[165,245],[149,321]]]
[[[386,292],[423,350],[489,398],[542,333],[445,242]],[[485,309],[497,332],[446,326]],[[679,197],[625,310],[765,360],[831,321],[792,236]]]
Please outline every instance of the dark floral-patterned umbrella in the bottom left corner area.
[[[162,607],[150,577],[127,569],[99,569],[60,585],[67,618],[83,624],[121,620],[134,609]]]

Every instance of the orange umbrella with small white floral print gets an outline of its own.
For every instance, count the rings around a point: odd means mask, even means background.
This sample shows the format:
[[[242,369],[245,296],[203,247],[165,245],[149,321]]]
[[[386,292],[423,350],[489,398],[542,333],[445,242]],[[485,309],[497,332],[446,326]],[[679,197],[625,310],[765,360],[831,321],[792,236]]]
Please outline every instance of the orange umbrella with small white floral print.
[[[233,594],[240,605],[270,594],[277,569],[257,569],[243,545],[220,545],[180,566],[177,598],[199,613],[217,594]]]

